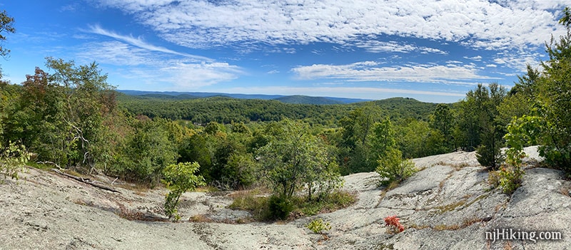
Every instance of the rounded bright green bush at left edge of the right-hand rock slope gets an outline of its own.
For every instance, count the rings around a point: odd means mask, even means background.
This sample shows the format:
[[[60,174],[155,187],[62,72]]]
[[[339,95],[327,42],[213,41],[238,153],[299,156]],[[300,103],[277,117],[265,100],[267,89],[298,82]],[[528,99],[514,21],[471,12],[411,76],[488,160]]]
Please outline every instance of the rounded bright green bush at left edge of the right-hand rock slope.
[[[391,148],[387,155],[378,160],[377,172],[380,175],[380,184],[388,185],[391,182],[402,182],[416,172],[414,162],[403,160],[400,150]]]

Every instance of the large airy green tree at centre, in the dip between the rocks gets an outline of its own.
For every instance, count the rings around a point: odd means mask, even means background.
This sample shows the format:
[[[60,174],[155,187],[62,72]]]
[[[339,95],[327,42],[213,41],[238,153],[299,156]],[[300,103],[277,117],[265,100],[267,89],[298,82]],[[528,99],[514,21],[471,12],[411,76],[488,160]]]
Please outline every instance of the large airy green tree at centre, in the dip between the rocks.
[[[312,199],[315,191],[326,194],[340,187],[337,165],[328,155],[327,145],[307,134],[307,125],[285,119],[266,130],[272,131],[271,140],[257,155],[275,194],[289,198],[305,185],[308,199]]]

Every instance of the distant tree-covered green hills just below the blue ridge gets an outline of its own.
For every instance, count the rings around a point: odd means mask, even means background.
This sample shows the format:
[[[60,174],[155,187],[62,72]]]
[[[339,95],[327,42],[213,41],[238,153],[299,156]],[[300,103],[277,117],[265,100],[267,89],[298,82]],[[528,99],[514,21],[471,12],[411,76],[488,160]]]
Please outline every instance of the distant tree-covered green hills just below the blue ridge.
[[[334,126],[351,110],[366,105],[380,107],[383,116],[397,119],[426,119],[436,104],[422,103],[411,98],[390,98],[374,102],[313,105],[289,104],[278,100],[234,99],[234,98],[196,98],[179,100],[172,95],[149,98],[145,96],[118,95],[119,103],[129,112],[147,115],[150,118],[161,117],[171,120],[191,120],[206,125],[217,123],[248,123],[280,121],[282,118],[304,120],[312,124]],[[390,111],[388,111],[390,110]]]

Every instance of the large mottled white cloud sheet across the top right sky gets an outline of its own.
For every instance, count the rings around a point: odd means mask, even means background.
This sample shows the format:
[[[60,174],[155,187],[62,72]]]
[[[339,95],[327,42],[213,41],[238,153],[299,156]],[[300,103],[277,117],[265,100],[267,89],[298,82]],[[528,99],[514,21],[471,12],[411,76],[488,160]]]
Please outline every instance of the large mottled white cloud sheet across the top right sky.
[[[361,36],[462,42],[475,48],[540,46],[564,32],[552,11],[563,0],[168,1],[100,0],[191,48],[243,42],[343,43]],[[426,51],[429,52],[429,51]]]

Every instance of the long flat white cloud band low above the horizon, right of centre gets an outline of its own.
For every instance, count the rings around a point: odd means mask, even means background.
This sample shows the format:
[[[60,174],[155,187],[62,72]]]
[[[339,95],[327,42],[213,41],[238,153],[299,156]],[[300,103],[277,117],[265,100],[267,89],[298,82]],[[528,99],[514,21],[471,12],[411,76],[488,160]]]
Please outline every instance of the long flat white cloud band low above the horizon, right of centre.
[[[345,65],[313,64],[291,70],[301,80],[344,79],[349,81],[408,81],[472,84],[465,80],[493,79],[479,75],[474,65],[410,65],[380,67],[373,61]]]

